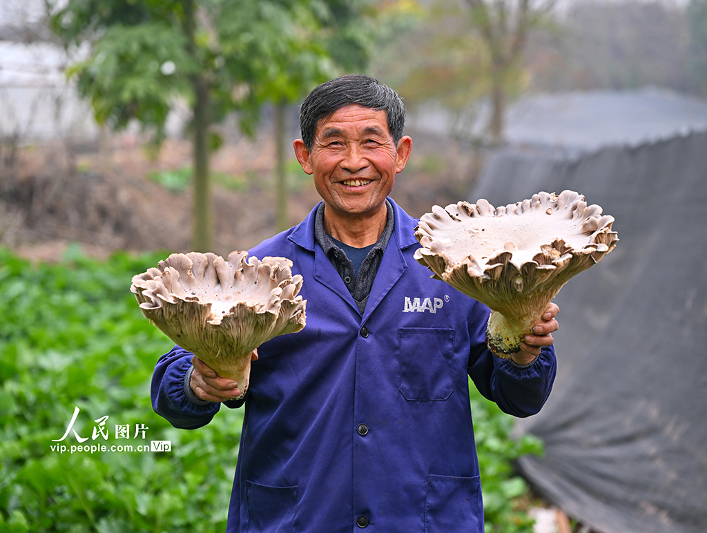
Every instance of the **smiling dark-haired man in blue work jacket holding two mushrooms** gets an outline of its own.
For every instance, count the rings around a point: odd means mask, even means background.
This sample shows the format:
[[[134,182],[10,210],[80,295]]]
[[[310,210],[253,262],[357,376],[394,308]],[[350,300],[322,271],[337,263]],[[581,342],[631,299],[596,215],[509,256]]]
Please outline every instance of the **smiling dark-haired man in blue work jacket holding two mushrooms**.
[[[489,309],[413,259],[416,220],[388,198],[410,156],[403,126],[402,100],[373,78],[315,88],[294,150],[322,202],[250,250],[293,261],[307,326],[258,348],[240,402],[179,346],[158,362],[153,405],[174,426],[245,401],[230,533],[481,533],[467,375],[515,416],[550,392],[556,305],[501,359],[484,343]],[[411,310],[414,298],[433,305]]]

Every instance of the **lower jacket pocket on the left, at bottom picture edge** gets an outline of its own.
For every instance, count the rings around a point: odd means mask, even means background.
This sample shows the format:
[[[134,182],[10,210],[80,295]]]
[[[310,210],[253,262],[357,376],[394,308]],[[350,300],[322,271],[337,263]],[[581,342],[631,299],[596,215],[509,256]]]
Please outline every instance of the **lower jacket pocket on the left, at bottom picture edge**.
[[[291,533],[297,505],[297,486],[271,487],[246,482],[248,533]]]

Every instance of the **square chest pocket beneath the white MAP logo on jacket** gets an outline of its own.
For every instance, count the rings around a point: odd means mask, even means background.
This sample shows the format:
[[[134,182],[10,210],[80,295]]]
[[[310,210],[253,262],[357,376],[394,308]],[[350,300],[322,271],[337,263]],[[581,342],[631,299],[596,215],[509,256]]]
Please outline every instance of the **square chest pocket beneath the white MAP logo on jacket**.
[[[398,329],[400,392],[409,400],[444,400],[454,391],[454,330]]]

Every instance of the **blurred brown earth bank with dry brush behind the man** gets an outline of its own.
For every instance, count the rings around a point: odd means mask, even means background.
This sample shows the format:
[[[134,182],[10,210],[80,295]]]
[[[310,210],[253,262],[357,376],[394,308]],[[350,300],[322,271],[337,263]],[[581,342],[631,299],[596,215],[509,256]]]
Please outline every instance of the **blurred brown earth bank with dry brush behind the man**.
[[[190,142],[168,139],[151,154],[138,136],[123,134],[102,146],[0,143],[0,246],[47,261],[75,242],[84,254],[103,258],[115,250],[190,251],[190,187],[173,192],[151,179],[159,172],[188,172]],[[256,139],[231,139],[212,155],[211,251],[246,250],[276,233],[274,162],[267,131]],[[416,140],[392,197],[418,217],[434,204],[466,199],[477,174],[472,163],[453,143]],[[293,225],[320,198],[294,157],[287,168]]]

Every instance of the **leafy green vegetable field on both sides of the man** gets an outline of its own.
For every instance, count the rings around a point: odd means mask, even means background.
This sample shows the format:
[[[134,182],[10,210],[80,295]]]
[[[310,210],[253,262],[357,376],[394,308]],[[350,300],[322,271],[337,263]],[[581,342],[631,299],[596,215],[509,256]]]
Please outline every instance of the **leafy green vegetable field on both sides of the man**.
[[[242,410],[177,430],[150,380],[171,341],[142,316],[134,274],[166,253],[106,262],[70,247],[33,265],[0,248],[0,530],[223,532]],[[540,452],[472,387],[486,532],[530,532],[511,461]],[[170,442],[168,446],[165,441]]]

